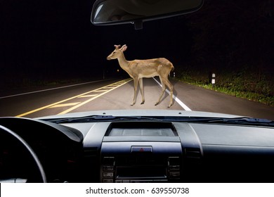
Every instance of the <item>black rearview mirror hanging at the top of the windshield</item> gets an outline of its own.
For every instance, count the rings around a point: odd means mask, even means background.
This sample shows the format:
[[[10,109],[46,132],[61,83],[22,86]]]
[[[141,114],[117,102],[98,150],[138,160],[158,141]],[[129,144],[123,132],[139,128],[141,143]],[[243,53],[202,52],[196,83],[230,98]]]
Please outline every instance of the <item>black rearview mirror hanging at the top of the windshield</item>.
[[[141,29],[145,21],[191,13],[203,4],[204,0],[97,0],[91,12],[91,23],[133,23],[136,29]]]

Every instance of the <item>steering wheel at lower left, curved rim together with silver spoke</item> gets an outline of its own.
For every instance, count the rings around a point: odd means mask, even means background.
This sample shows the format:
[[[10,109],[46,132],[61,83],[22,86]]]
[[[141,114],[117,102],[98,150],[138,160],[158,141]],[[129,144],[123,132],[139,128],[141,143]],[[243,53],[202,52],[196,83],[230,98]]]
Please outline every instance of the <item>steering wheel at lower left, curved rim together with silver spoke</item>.
[[[46,174],[44,172],[44,168],[41,165],[41,162],[40,162],[39,158],[37,157],[37,154],[34,153],[32,148],[30,147],[30,145],[27,144],[27,142],[24,139],[22,139],[21,136],[19,136],[15,132],[13,132],[11,129],[8,129],[7,127],[4,127],[2,125],[0,125],[0,133],[1,132],[4,132],[6,135],[11,136],[12,139],[15,139],[15,141],[18,141],[20,144],[22,144],[22,146],[24,148],[26,148],[27,153],[30,154],[30,156],[34,160],[35,165],[37,165],[37,168],[39,169],[39,176],[40,176],[39,178],[41,178],[42,182],[46,183]],[[0,179],[0,182],[23,182],[23,181],[24,181],[24,179],[18,179],[18,178]]]

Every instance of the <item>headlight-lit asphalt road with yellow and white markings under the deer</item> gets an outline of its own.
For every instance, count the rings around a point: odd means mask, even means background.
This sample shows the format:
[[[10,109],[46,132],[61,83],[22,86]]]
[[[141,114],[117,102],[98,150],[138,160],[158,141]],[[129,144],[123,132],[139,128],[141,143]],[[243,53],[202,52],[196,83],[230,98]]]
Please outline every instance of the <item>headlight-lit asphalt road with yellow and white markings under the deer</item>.
[[[167,108],[169,94],[166,93],[155,106],[162,89],[156,80],[158,77],[143,80],[143,105],[140,104],[141,94],[138,93],[136,104],[131,106],[131,79],[100,80],[0,96],[0,116],[41,117],[89,110],[171,109],[229,113],[274,120],[274,107],[176,80],[171,80],[174,84],[174,105]]]

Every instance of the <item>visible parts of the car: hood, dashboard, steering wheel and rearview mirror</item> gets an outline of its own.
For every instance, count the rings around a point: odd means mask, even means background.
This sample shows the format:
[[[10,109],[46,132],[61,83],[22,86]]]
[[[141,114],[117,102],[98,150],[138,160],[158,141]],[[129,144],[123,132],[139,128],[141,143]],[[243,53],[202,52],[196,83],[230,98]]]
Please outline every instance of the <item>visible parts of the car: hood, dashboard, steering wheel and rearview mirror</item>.
[[[98,0],[91,25],[194,13],[203,0]],[[172,98],[171,98],[172,99]],[[186,110],[94,110],[0,117],[0,182],[273,182],[272,120]]]

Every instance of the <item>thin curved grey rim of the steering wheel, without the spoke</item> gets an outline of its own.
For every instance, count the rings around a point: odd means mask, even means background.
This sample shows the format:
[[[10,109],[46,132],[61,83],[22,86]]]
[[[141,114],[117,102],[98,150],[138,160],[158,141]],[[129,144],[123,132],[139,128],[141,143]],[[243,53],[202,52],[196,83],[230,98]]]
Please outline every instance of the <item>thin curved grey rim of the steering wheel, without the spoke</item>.
[[[29,151],[30,155],[32,155],[32,158],[34,159],[40,175],[41,175],[41,179],[43,180],[43,183],[46,183],[46,173],[44,171],[44,167],[43,165],[41,165],[41,162],[39,160],[39,158],[37,157],[37,154],[32,150],[32,148],[30,147],[29,144],[27,144],[27,141],[25,141],[24,139],[22,139],[21,136],[19,136],[18,134],[16,134],[15,132],[13,132],[11,129],[8,129],[7,127],[4,127],[2,125],[0,125],[0,129],[4,130],[4,132],[7,132],[8,134],[11,134],[11,136],[15,137],[15,139],[18,139],[18,141],[20,141],[20,143],[25,146],[25,148],[27,148],[27,151]]]

